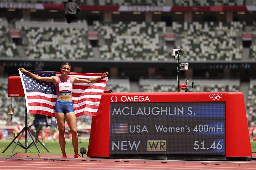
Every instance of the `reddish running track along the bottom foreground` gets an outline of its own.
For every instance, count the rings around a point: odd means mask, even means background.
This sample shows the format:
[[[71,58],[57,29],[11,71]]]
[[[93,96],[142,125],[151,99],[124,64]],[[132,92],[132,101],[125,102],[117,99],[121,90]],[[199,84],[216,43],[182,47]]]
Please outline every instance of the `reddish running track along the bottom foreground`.
[[[177,161],[136,159],[74,159],[0,157],[0,169],[204,169],[238,170],[255,169],[256,161]]]

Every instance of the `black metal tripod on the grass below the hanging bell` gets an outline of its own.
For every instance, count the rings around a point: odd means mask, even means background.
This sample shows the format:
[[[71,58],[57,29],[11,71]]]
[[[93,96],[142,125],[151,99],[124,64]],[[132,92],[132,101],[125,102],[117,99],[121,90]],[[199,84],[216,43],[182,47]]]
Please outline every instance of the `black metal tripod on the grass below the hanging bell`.
[[[25,105],[25,126],[24,126],[24,128],[20,131],[20,133],[18,133],[18,135],[12,140],[12,142],[5,148],[5,150],[4,150],[2,153],[4,153],[4,152],[9,148],[9,146],[12,145],[13,142],[15,143],[15,146],[13,147],[11,153],[13,153],[13,151],[15,150],[15,148],[16,148],[17,145],[19,145],[20,147],[22,147],[23,149],[25,149],[25,152],[26,152],[26,153],[27,153],[27,149],[28,149],[28,148],[30,148],[30,147],[32,147],[32,146],[35,145],[37,151],[38,151],[39,153],[41,153],[40,150],[39,150],[39,148],[38,148],[38,146],[37,146],[37,144],[36,144],[36,143],[38,143],[38,142],[44,147],[44,149],[45,149],[47,152],[50,152],[50,151],[48,151],[48,149],[42,144],[42,142],[36,137],[36,135],[34,134],[34,132],[32,132],[32,130],[29,129],[28,120],[27,120],[27,119],[28,119],[28,112],[27,112],[27,107],[26,107],[26,105]],[[22,135],[23,135],[24,132],[25,132],[25,146],[20,143],[20,138],[22,137]],[[28,145],[28,135],[27,135],[27,132],[29,133],[31,139],[33,140],[33,142],[32,142],[31,144],[29,144],[29,145]],[[15,140],[16,140],[18,137],[19,137],[18,141],[15,142]],[[35,140],[33,137],[35,137],[36,140]]]

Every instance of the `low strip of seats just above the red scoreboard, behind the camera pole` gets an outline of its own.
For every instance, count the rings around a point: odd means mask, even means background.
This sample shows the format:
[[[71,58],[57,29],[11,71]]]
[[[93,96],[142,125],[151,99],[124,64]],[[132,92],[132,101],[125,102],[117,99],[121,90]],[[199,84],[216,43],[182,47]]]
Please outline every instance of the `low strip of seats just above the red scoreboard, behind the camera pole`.
[[[240,80],[190,80],[194,81],[194,88],[189,88],[190,92],[238,92]],[[141,92],[175,92],[177,91],[177,81],[140,79]]]

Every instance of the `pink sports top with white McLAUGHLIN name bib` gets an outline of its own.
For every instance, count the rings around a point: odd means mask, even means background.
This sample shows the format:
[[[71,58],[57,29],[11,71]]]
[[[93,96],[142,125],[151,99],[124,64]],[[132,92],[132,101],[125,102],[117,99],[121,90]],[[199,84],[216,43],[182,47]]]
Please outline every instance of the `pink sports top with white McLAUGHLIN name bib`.
[[[60,94],[72,94],[73,83],[71,77],[68,76],[67,79],[62,79],[58,76],[58,82],[56,85],[57,95]]]

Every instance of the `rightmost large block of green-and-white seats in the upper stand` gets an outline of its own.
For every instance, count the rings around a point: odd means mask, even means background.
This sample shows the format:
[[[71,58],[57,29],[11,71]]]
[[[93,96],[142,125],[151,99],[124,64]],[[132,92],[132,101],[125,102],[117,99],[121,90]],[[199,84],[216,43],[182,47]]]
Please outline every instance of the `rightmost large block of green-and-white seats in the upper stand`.
[[[244,27],[245,23],[240,22],[174,23],[174,33],[181,35],[181,44],[175,48],[186,51],[185,56],[181,55],[185,61],[241,60],[242,45],[234,47],[237,46],[236,37],[242,34]]]

